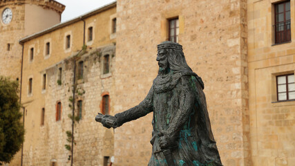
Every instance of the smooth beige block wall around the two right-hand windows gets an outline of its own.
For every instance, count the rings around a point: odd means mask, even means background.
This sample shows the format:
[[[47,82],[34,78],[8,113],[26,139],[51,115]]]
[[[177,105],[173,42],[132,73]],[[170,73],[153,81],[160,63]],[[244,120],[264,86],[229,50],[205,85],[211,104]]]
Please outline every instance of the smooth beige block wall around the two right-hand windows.
[[[292,42],[274,45],[274,3],[248,1],[249,113],[253,165],[294,165],[295,102],[277,102],[276,76],[294,73],[294,0]]]

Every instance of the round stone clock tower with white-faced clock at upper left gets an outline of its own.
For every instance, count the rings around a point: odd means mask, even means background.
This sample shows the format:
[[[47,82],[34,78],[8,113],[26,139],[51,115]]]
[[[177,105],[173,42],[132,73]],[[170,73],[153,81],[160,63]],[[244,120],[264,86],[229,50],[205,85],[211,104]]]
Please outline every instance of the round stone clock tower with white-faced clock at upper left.
[[[0,75],[20,80],[19,39],[59,24],[65,8],[53,0],[0,1]]]

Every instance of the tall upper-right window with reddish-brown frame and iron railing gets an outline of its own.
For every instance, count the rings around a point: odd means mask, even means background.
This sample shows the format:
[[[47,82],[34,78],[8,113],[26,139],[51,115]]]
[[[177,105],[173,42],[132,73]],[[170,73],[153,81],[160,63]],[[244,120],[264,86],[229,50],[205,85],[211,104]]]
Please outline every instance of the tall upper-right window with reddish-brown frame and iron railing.
[[[276,44],[291,41],[290,1],[277,3],[275,8],[275,42]]]

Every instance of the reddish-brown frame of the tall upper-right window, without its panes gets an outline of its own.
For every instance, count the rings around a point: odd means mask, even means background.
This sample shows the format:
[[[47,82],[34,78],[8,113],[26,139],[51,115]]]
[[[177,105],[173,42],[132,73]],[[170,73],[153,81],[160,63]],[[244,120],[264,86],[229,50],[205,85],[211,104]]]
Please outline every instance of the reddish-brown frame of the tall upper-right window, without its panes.
[[[289,3],[290,9],[286,10],[286,3]],[[283,12],[277,12],[277,8],[279,5],[284,4]],[[289,18],[286,20],[287,15],[286,13],[289,12]],[[277,20],[277,15],[283,14],[283,21]],[[284,30],[277,30],[280,28],[280,26],[284,27]],[[289,29],[287,29],[287,26],[289,26]],[[282,39],[282,36],[285,39]],[[274,44],[284,44],[292,42],[292,30],[291,30],[291,2],[289,0],[282,1],[279,3],[274,3]]]

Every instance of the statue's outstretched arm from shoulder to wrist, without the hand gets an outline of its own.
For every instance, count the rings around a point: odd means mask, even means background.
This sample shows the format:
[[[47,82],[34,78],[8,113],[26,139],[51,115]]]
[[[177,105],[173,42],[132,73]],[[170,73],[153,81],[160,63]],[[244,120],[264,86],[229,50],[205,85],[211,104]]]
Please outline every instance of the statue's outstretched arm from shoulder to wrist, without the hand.
[[[115,114],[116,125],[117,127],[120,127],[125,122],[146,116],[146,114],[151,111],[153,111],[153,86],[149,90],[148,95],[146,95],[146,98],[140,102],[140,104],[122,113]]]

